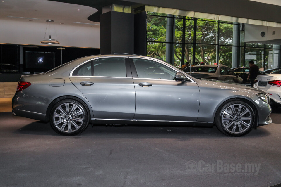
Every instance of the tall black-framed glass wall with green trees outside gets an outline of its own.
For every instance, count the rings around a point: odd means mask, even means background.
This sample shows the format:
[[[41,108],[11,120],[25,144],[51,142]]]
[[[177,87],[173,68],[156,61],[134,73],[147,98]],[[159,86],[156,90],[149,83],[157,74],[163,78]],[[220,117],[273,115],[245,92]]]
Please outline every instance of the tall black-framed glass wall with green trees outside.
[[[264,56],[265,55],[265,56]],[[177,67],[220,64],[260,70],[279,66],[280,45],[244,42],[244,24],[147,12],[147,56]]]

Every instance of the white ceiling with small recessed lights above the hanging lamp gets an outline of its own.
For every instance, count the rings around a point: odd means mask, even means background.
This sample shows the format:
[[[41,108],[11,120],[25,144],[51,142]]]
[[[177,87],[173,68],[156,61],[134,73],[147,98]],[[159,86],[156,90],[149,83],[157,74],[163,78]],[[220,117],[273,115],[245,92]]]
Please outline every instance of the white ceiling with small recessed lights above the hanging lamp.
[[[54,20],[53,24],[88,27],[92,26],[92,24],[100,24],[97,22],[89,21],[87,19],[88,16],[92,15],[95,12],[97,12],[97,9],[89,6],[61,3],[55,1],[0,0],[0,20],[46,23],[46,20],[50,19]]]

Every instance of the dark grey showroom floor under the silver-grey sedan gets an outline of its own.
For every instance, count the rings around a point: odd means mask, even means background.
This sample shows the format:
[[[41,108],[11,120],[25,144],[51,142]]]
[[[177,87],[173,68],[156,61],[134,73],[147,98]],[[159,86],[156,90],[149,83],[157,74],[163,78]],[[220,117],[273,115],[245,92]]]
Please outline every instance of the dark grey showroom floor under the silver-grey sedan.
[[[2,112],[0,186],[273,186],[281,183],[280,111],[239,138],[216,127],[90,125],[67,137]]]

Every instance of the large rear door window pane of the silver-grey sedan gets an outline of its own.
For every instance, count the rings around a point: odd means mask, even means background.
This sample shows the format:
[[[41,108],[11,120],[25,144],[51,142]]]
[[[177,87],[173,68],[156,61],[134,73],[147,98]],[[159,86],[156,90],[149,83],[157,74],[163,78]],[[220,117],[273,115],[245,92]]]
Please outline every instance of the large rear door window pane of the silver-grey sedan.
[[[125,58],[100,58],[93,61],[94,76],[126,77]]]

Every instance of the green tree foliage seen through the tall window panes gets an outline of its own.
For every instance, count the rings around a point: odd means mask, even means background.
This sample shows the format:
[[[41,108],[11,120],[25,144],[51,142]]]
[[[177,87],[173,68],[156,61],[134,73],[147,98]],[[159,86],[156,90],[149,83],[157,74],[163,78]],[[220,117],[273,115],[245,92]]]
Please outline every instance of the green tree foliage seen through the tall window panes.
[[[154,15],[154,16],[153,16]],[[166,16],[160,13],[150,13],[147,16],[147,55],[161,60],[166,60],[166,44],[156,43],[166,41]],[[196,41],[194,38],[194,20],[186,17],[185,20],[185,38],[183,41],[183,21],[182,18],[174,18],[174,65],[181,66],[182,47],[184,47],[184,62],[192,64],[193,43],[195,48],[195,62],[204,64],[214,64],[216,62],[217,51],[217,32],[218,22],[214,20],[197,20]],[[220,25],[219,42],[221,45],[232,45],[233,25],[223,23]],[[185,44],[184,46],[182,44]],[[231,67],[232,47],[220,46],[220,64]]]

